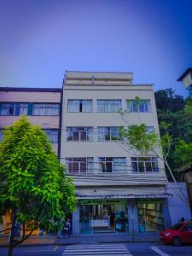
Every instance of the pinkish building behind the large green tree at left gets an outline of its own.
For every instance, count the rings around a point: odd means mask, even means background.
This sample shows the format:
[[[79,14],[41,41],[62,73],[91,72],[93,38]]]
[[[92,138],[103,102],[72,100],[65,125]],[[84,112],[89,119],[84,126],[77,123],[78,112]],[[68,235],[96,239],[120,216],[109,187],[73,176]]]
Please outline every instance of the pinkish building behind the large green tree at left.
[[[60,141],[61,89],[0,87],[0,141],[3,129],[21,114],[41,125],[56,154]]]

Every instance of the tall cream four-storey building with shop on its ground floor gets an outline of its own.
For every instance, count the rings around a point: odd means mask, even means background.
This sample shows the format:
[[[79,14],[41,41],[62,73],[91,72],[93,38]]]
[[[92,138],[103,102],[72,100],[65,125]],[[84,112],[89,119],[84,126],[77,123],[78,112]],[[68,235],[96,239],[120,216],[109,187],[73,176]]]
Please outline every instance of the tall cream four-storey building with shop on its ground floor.
[[[148,131],[159,133],[153,85],[132,84],[132,79],[132,73],[66,72],[61,162],[79,199],[73,234],[160,231],[184,214],[185,207],[173,221],[170,217],[173,194],[166,191],[172,189],[163,161],[125,150],[119,141],[120,126],[145,123]],[[142,100],[139,107],[136,96]],[[121,109],[127,111],[129,124]]]

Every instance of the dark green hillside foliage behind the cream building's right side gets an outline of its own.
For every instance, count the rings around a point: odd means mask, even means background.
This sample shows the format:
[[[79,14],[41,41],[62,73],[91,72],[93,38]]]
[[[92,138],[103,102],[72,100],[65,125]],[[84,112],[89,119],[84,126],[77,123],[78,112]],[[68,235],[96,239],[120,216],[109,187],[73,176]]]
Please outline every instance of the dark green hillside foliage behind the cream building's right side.
[[[158,90],[154,95],[160,135],[164,137],[168,134],[169,137],[172,137],[167,161],[172,170],[176,171],[175,176],[179,179],[177,169],[183,166],[184,161],[178,158],[177,148],[181,146],[181,140],[187,144],[192,142],[192,102],[190,98],[183,100],[183,97],[177,96],[174,91],[167,93],[167,90]],[[167,176],[170,177],[169,172],[167,172]]]

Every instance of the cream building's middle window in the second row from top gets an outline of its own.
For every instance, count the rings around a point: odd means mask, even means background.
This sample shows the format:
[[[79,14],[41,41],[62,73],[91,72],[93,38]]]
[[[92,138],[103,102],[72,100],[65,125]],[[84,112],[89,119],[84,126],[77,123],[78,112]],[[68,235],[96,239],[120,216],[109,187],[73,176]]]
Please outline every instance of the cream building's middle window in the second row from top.
[[[119,140],[119,127],[97,127],[98,141],[115,141]]]

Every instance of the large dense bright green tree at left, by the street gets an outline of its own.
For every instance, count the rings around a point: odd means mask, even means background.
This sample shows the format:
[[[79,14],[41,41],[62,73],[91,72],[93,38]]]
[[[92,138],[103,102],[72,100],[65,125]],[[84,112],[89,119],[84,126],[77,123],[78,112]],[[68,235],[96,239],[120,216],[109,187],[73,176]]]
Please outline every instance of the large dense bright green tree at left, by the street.
[[[60,229],[76,205],[72,180],[48,137],[24,116],[5,130],[0,143],[0,205],[0,215],[11,215],[9,256],[33,230]],[[14,237],[16,222],[22,224],[20,240]]]

